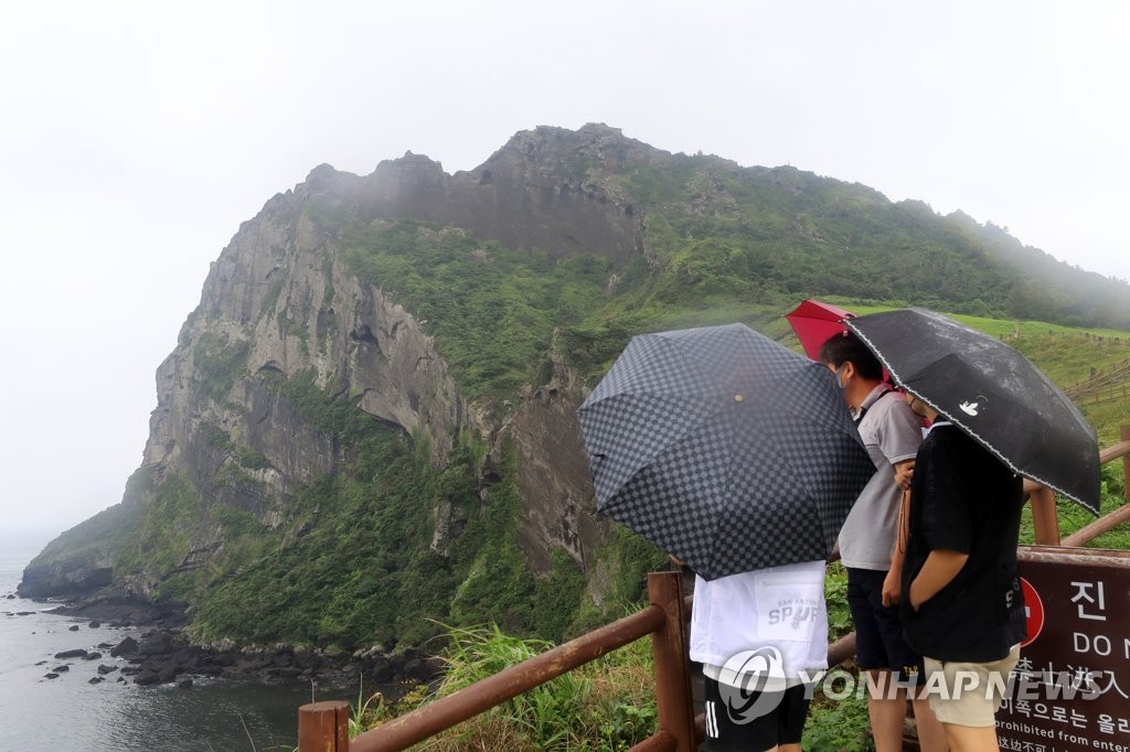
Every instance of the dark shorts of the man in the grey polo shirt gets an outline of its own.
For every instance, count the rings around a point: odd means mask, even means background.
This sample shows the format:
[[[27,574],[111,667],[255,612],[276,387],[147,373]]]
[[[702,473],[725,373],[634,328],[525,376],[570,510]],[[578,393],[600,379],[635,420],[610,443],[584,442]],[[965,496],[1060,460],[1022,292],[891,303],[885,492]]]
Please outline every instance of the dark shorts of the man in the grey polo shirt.
[[[886,668],[897,673],[899,684],[921,684],[925,681],[922,656],[903,638],[898,606],[883,605],[886,577],[886,571],[847,569],[847,606],[855,622],[855,661],[864,671]]]

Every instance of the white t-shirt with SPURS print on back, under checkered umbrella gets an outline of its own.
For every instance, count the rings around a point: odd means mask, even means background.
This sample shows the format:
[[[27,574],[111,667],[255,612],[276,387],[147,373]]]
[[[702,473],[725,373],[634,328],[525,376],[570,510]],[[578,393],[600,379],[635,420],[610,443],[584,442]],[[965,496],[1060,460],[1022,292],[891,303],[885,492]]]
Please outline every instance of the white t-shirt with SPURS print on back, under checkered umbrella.
[[[824,570],[819,560],[713,580],[696,576],[690,659],[702,663],[707,676],[739,687],[742,666],[764,670],[770,656],[779,656],[775,673],[783,681],[765,685],[768,691],[799,684],[800,672],[812,676],[827,668]]]

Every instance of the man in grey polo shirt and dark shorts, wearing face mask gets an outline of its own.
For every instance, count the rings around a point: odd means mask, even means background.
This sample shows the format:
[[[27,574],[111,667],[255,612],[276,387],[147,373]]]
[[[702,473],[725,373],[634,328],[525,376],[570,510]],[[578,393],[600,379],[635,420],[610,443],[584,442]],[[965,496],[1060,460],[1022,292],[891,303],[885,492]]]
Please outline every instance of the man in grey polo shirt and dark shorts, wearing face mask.
[[[868,681],[868,715],[877,752],[903,749],[906,693],[924,681],[922,658],[903,639],[898,600],[905,540],[903,492],[896,473],[914,464],[922,422],[903,395],[883,379],[883,366],[850,332],[820,348],[820,362],[836,375],[876,471],[840,532],[847,569],[847,604],[855,624],[859,667]],[[912,696],[913,697],[913,696]],[[946,736],[924,698],[913,700],[923,752],[946,750]]]

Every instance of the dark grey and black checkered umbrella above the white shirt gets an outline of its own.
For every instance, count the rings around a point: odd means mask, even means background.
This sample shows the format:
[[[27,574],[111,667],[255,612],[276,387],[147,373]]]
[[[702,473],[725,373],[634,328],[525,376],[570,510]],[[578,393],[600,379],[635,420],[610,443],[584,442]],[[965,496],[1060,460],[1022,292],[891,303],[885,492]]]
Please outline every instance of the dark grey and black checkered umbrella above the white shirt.
[[[742,324],[633,338],[577,417],[597,509],[706,579],[826,559],[875,472],[832,373]]]

